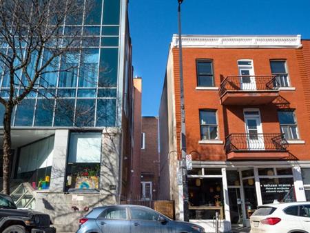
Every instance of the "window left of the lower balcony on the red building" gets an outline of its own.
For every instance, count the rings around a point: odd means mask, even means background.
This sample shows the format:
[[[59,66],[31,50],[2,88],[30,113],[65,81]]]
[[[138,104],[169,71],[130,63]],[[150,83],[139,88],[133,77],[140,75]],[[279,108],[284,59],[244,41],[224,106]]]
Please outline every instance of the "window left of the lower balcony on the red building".
[[[218,125],[215,110],[200,110],[201,140],[218,139]]]

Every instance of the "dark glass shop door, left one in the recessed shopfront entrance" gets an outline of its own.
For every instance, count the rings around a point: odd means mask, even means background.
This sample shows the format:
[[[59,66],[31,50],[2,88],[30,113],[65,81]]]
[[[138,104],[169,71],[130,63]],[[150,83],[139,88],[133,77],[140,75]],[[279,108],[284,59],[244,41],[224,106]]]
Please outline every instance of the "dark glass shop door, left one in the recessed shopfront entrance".
[[[242,201],[240,196],[240,188],[228,188],[229,195],[229,212],[231,224],[243,224]]]

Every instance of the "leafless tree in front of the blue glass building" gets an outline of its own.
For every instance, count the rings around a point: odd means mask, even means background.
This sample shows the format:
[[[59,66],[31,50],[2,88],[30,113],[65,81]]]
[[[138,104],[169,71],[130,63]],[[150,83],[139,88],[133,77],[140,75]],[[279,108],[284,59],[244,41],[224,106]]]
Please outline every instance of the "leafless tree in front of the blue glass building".
[[[76,72],[74,60],[81,50],[83,19],[81,0],[0,0],[0,103],[3,117],[3,192],[10,194],[11,118],[14,106],[33,92],[43,96],[50,87],[49,74]],[[85,16],[84,16],[85,17]],[[81,23],[79,23],[81,24]],[[68,31],[65,31],[69,28]],[[63,35],[65,34],[65,35]],[[52,76],[56,79],[56,75]]]

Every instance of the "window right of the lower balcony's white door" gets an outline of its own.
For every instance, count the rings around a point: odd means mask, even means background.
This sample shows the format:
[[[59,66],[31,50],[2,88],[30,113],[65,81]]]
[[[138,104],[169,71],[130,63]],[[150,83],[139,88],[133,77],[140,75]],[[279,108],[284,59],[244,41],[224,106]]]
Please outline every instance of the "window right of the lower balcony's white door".
[[[285,139],[299,139],[296,116],[293,110],[278,111],[278,119],[281,132],[285,134]]]

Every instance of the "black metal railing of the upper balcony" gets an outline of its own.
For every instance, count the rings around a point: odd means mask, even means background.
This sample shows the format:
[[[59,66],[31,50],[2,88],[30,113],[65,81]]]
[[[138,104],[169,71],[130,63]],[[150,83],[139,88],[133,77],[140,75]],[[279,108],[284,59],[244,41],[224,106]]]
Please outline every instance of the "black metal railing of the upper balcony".
[[[220,83],[220,96],[227,91],[278,90],[279,87],[276,75],[230,76]]]

